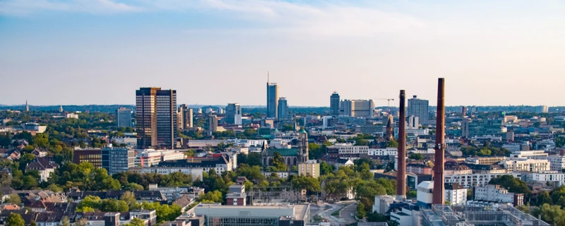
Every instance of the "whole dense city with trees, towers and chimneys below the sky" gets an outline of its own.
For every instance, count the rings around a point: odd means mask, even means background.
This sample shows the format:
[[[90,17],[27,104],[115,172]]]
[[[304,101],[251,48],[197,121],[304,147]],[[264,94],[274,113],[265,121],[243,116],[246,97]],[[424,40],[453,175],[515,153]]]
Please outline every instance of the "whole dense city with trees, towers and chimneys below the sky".
[[[445,86],[434,107],[290,107],[269,82],[266,109],[1,106],[0,225],[565,225],[565,108],[446,107]]]

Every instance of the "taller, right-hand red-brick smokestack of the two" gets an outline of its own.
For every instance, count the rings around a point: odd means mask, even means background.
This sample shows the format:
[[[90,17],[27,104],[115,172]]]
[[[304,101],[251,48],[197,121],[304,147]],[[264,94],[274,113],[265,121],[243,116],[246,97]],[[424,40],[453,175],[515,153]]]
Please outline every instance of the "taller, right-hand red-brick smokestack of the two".
[[[436,121],[436,162],[434,165],[434,204],[444,204],[444,158],[445,158],[445,81],[439,78],[437,83],[437,121]]]

